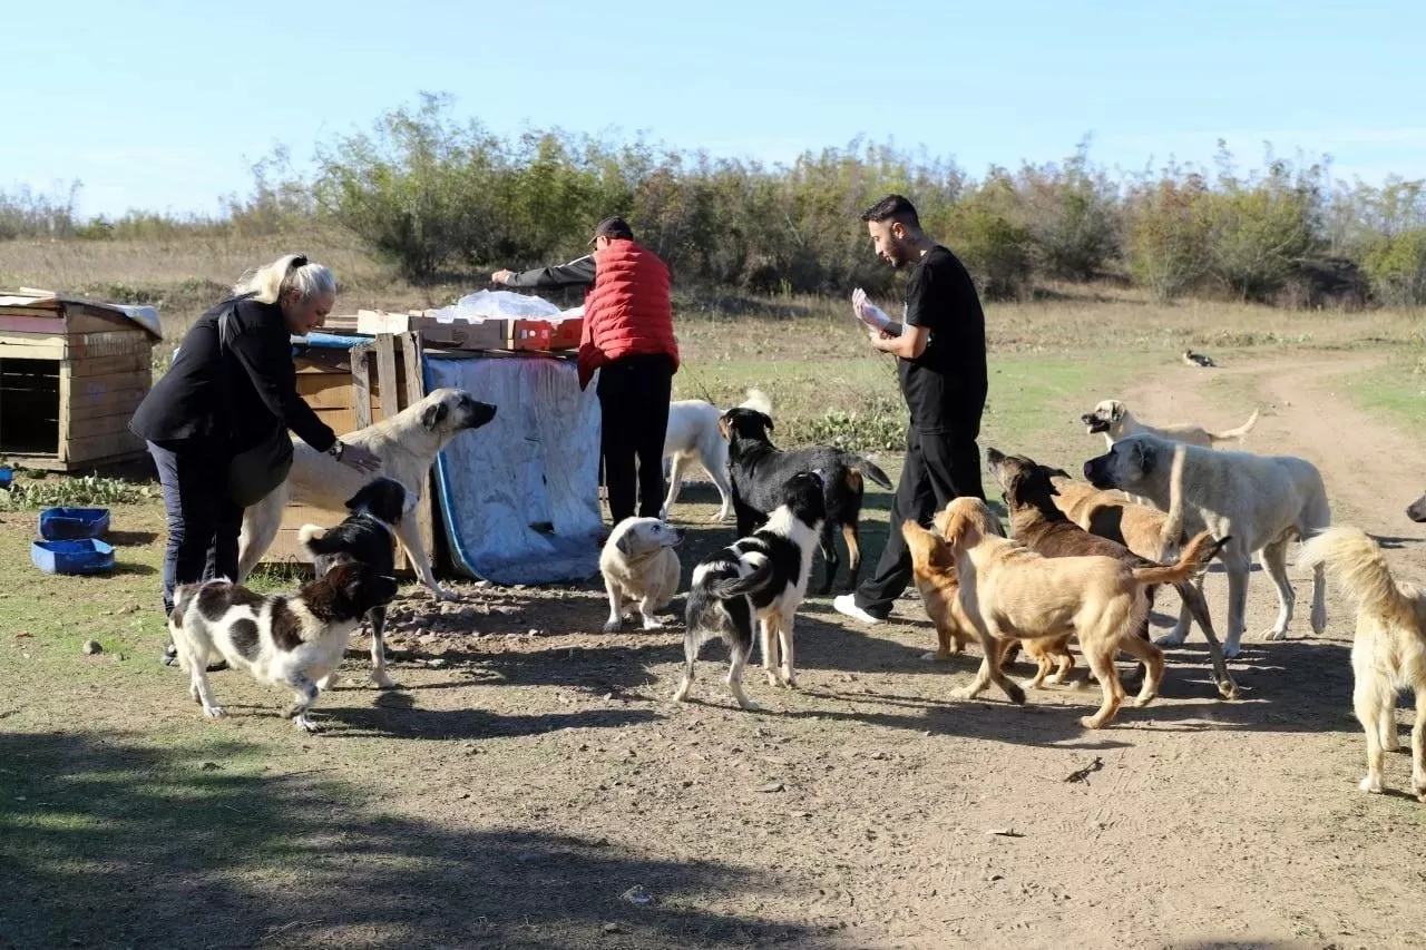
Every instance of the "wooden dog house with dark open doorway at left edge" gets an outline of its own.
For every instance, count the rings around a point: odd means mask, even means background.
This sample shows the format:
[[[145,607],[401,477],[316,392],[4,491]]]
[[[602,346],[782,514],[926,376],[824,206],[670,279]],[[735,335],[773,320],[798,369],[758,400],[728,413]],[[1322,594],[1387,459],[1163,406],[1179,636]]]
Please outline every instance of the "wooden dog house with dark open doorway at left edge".
[[[0,456],[57,472],[141,456],[128,419],[160,339],[153,307],[0,291]]]

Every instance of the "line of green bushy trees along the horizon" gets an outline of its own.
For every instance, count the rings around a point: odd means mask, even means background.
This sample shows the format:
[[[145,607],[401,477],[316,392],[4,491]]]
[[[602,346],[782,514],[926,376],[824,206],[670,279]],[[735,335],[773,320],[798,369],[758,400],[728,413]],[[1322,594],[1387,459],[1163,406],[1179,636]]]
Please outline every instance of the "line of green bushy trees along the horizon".
[[[861,141],[769,165],[559,130],[502,137],[425,96],[319,145],[307,175],[274,151],[254,168],[251,193],[225,198],[220,215],[86,221],[74,190],[21,188],[0,193],[0,240],[274,234],[322,223],[422,282],[575,257],[595,221],[623,214],[687,285],[884,292],[893,277],[858,215],[897,191],[990,298],[1119,281],[1158,300],[1426,304],[1426,183],[1348,185],[1329,167],[1269,151],[1261,170],[1241,173],[1221,145],[1206,170],[1111,173],[1081,145],[1064,161],[975,178],[948,160]]]

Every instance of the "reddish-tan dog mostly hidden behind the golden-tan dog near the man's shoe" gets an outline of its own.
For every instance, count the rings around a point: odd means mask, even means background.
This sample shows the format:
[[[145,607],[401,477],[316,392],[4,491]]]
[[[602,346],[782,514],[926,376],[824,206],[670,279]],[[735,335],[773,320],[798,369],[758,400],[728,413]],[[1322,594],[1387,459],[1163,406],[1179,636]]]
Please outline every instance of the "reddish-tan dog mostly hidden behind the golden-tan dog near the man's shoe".
[[[947,509],[948,511],[948,509]],[[987,535],[1004,538],[1000,521],[990,514],[978,525]],[[944,519],[945,512],[937,515]],[[940,529],[940,528],[937,528]],[[927,653],[923,659],[945,660],[961,653],[965,645],[975,640],[975,625],[965,613],[960,599],[960,583],[955,573],[955,555],[951,553],[945,539],[921,528],[914,521],[901,525],[901,536],[906,538],[911,551],[911,576],[915,578],[915,589],[921,592],[921,603],[925,615],[935,623],[935,638],[938,649]],[[1022,645],[1025,655],[1035,660],[1038,670],[1025,680],[1025,689],[1038,689],[1050,675],[1050,669],[1058,665],[1058,670],[1050,680],[1062,683],[1070,670],[1074,669],[1074,655],[1070,653],[1070,635],[1050,640],[1007,640],[1000,655],[1004,665],[1015,645]]]

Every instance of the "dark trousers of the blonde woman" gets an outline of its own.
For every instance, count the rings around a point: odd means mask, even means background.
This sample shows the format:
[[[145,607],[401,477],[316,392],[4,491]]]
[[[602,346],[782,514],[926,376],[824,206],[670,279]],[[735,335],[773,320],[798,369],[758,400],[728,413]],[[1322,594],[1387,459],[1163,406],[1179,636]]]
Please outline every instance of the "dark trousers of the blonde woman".
[[[238,579],[238,536],[242,509],[228,496],[228,458],[198,445],[148,444],[158,468],[168,518],[164,549],[164,613],[174,606],[180,583]]]

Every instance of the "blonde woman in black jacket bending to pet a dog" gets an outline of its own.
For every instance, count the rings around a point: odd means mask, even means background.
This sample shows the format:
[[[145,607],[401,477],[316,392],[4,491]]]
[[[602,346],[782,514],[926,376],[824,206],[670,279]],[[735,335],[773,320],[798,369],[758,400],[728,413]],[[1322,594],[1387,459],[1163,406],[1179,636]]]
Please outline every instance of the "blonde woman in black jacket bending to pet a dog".
[[[337,278],[301,254],[244,274],[134,412],[128,428],[148,442],[168,516],[165,613],[177,585],[238,576],[242,509],[287,478],[288,431],[358,471],[379,468],[297,394],[291,337],[321,327],[335,301]]]

